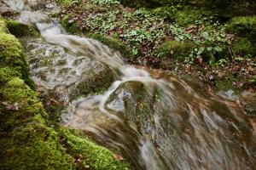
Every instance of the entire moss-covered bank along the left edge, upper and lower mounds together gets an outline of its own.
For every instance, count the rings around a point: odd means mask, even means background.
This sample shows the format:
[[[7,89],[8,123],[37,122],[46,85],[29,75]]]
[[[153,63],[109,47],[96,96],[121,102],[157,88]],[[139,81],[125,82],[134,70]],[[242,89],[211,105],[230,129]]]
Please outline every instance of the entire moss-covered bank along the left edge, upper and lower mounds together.
[[[20,42],[1,21],[0,169],[128,169],[110,150],[49,119],[27,85],[32,81],[24,81],[29,77]]]

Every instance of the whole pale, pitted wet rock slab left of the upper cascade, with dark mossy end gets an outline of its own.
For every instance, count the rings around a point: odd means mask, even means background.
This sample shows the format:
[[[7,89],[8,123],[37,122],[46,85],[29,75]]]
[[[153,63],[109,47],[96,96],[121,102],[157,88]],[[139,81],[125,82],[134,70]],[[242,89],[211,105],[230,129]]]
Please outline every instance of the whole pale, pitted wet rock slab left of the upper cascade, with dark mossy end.
[[[62,100],[96,93],[113,81],[108,65],[67,52],[41,38],[21,39],[31,65],[33,80],[40,87],[60,91]]]

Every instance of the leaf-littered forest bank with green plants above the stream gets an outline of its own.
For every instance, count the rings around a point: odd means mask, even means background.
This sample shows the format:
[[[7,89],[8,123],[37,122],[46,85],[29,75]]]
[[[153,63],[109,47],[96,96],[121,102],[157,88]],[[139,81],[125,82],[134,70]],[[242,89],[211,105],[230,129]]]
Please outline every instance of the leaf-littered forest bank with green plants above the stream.
[[[219,20],[192,7],[129,8],[93,0],[66,2],[58,16],[67,31],[118,49],[129,63],[197,77],[217,91],[255,91],[255,44],[232,30],[237,17]]]

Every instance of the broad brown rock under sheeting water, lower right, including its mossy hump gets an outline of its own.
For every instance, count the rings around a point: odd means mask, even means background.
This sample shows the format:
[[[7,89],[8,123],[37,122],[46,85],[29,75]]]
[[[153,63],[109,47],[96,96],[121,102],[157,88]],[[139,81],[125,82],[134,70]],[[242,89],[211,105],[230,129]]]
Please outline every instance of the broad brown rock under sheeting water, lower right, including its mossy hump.
[[[105,108],[123,117],[139,132],[148,134],[163,161],[162,166],[173,169],[211,169],[215,166],[222,169],[226,159],[230,161],[228,167],[234,167],[240,159],[238,168],[252,168],[246,165],[248,162],[255,165],[255,138],[250,122],[241,114],[240,108],[207,91],[204,95],[198,94],[186,82],[173,77],[172,82],[175,88],[152,90],[142,82],[123,82],[109,96]],[[244,146],[239,145],[241,141],[245,142]],[[201,156],[211,163],[202,165]]]

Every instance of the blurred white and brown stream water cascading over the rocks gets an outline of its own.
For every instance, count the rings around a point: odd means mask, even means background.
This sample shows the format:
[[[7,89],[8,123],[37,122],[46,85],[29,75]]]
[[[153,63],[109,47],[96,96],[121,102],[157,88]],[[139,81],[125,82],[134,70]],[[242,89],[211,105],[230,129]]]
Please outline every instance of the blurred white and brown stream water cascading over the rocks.
[[[36,25],[43,37],[27,42],[32,76],[44,88],[63,94],[68,105],[63,125],[119,148],[135,169],[256,168],[253,127],[236,102],[165,71],[126,65],[102,43],[68,35],[56,20],[32,11],[29,1],[11,2],[9,6],[20,11],[18,20]],[[49,62],[38,65],[44,58]],[[84,71],[104,70],[104,65],[114,77],[108,90],[76,100],[69,97]]]

